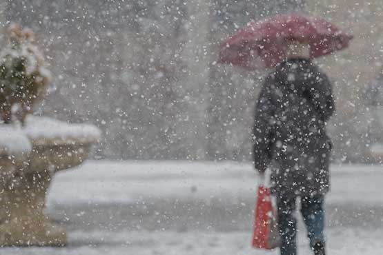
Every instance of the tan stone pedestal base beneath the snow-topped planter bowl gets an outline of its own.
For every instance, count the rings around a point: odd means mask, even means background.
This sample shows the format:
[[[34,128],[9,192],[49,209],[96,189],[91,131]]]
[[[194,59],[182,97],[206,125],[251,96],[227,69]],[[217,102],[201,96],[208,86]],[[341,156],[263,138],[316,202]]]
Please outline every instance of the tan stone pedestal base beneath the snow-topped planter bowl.
[[[1,193],[0,245],[52,245],[67,243],[65,230],[52,225],[43,212],[52,179],[48,170],[14,172]]]

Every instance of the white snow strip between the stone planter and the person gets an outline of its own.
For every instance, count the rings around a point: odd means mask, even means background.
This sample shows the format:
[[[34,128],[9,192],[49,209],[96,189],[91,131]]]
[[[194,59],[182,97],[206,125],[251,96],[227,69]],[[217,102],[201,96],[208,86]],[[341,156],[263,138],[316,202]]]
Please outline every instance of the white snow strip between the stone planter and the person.
[[[137,198],[206,198],[253,196],[257,182],[250,165],[237,163],[108,162],[86,163],[58,174],[54,203],[127,203]],[[84,182],[88,180],[89,182]],[[108,180],[108,181],[106,181]],[[155,192],[153,192],[153,185]],[[150,187],[150,188],[148,188]],[[237,189],[233,190],[233,187]],[[73,197],[73,190],[76,198]],[[193,192],[196,190],[196,192]],[[250,191],[250,194],[248,192]]]

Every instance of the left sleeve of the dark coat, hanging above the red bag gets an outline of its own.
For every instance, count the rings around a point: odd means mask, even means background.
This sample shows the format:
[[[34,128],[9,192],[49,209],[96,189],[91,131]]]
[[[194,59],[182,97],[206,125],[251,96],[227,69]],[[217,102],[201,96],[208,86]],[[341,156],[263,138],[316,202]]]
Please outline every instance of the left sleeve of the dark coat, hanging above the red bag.
[[[264,171],[271,162],[273,152],[273,117],[274,106],[271,101],[271,90],[266,82],[259,93],[255,108],[253,128],[253,156],[255,168]]]

